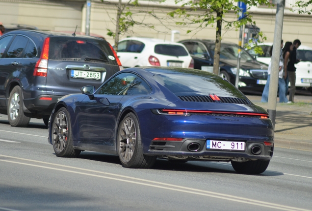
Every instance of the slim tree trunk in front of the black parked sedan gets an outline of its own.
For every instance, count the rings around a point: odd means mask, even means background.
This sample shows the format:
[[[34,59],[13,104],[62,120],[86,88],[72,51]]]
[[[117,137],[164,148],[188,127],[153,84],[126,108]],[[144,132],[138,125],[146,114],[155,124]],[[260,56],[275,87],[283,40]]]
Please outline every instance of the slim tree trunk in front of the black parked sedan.
[[[220,49],[221,49],[221,27],[223,8],[217,10],[217,30],[215,36],[215,47],[213,55],[213,73],[219,75]]]

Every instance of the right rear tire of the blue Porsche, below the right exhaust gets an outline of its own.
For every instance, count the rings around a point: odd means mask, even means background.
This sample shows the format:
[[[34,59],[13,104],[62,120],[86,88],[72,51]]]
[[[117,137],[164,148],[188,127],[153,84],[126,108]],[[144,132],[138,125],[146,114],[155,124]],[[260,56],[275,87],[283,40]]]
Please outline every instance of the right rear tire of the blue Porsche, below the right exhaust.
[[[263,173],[269,166],[269,160],[256,160],[246,162],[231,161],[233,169],[238,173],[243,174],[260,174]]]

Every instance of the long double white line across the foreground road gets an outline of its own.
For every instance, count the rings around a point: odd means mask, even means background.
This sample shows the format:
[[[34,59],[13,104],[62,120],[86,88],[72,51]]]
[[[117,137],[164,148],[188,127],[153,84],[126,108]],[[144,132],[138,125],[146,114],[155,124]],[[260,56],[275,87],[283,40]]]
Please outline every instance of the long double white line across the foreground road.
[[[12,159],[16,159],[16,160],[29,161],[29,162],[33,162],[33,163],[41,163],[41,164],[46,164],[46,165],[51,165],[51,166],[58,166],[58,167],[64,167],[64,168],[69,168],[69,169],[77,169],[77,170],[83,170],[83,171],[88,171],[88,172],[106,174],[106,175],[110,175],[110,176],[114,176],[114,177],[102,176],[102,175],[79,172],[79,171],[68,170],[68,169],[57,169],[57,168],[52,168],[52,167],[46,167],[46,166],[40,166],[40,165],[27,164],[27,163],[21,163],[21,162],[16,162],[16,161],[9,161],[9,160],[1,160],[0,159],[0,161],[2,161],[2,162],[15,163],[15,164],[20,164],[20,165],[44,168],[44,169],[52,169],[52,170],[76,173],[76,174],[81,174],[81,175],[86,175],[86,176],[93,176],[93,177],[99,177],[99,178],[104,178],[104,179],[122,181],[122,182],[126,182],[126,183],[144,185],[144,186],[149,186],[149,187],[154,187],[154,188],[174,190],[174,191],[191,193],[191,194],[196,194],[196,195],[203,195],[203,196],[219,198],[219,199],[224,199],[224,200],[229,200],[229,201],[234,201],[234,202],[239,202],[239,203],[244,203],[244,204],[256,205],[256,206],[260,206],[260,207],[273,208],[273,209],[277,209],[277,210],[311,211],[311,210],[289,207],[289,206],[285,206],[285,205],[274,204],[274,203],[269,203],[269,202],[264,202],[264,201],[259,201],[259,200],[229,195],[229,194],[212,192],[212,191],[208,191],[208,190],[193,189],[193,188],[188,188],[188,187],[183,187],[183,186],[172,185],[172,184],[168,184],[168,183],[156,182],[156,181],[152,181],[152,180],[139,179],[139,178],[130,177],[130,176],[107,173],[107,172],[103,172],[103,171],[97,171],[97,170],[91,170],[91,169],[82,169],[82,168],[77,168],[77,167],[65,166],[65,165],[60,165],[60,164],[53,164],[53,163],[48,163],[48,162],[43,162],[43,161],[36,161],[36,160],[30,160],[30,159],[18,158],[18,157],[6,156],[6,155],[0,155],[0,157],[6,157],[6,158],[12,158]],[[125,179],[116,178],[116,176],[121,177],[121,178],[125,178]],[[131,179],[131,180],[129,180],[129,179]],[[133,180],[137,180],[137,181],[133,181]],[[152,183],[152,184],[149,184],[149,183]]]

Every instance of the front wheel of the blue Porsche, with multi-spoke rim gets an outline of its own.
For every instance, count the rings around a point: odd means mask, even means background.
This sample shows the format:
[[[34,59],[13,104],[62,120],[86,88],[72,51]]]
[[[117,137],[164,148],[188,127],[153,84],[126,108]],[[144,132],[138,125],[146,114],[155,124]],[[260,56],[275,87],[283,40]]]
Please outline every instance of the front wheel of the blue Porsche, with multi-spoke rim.
[[[60,108],[53,116],[52,145],[58,157],[78,157],[81,150],[74,149],[72,125],[66,108]]]

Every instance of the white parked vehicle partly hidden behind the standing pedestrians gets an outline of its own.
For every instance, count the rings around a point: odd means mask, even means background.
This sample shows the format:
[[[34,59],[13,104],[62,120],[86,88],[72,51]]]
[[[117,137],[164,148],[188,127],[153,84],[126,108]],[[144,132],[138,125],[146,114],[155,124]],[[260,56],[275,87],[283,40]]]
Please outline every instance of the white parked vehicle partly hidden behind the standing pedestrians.
[[[248,50],[248,52],[254,55],[259,62],[269,64],[271,57],[269,54],[270,47],[273,43],[260,43],[263,52],[262,55],[256,54],[254,48]],[[296,63],[296,88],[297,89],[307,89],[312,92],[312,47],[300,45],[297,49],[297,58],[301,62]]]

